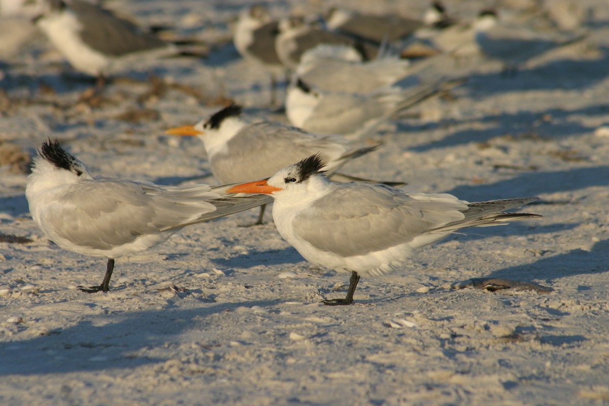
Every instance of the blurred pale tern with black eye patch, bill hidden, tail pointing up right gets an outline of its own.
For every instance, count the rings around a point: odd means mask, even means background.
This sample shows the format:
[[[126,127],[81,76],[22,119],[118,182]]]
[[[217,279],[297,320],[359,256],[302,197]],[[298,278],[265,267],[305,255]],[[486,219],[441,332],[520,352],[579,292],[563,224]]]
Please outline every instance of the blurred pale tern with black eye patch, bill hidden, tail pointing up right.
[[[354,94],[324,92],[295,78],[287,89],[286,115],[292,125],[307,131],[363,138],[401,111],[460,83],[463,81],[421,83],[406,89],[391,86]]]

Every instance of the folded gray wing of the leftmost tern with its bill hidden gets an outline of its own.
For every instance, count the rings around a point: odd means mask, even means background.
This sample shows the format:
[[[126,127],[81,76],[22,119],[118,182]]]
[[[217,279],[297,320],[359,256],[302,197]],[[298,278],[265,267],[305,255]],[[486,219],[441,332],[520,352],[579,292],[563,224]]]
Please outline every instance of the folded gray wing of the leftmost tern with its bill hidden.
[[[110,250],[144,234],[192,222],[216,210],[209,186],[163,188],[121,180],[85,180],[68,187],[43,223],[82,247]]]

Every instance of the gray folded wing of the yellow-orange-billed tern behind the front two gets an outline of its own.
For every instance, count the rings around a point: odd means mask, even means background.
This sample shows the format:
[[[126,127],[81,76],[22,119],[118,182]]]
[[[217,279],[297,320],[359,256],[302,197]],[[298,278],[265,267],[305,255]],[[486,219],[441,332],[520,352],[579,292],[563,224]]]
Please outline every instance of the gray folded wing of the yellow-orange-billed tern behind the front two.
[[[242,128],[227,142],[224,152],[211,156],[211,170],[225,183],[259,180],[278,170],[321,153],[334,161],[345,147],[332,137],[315,137],[295,127],[259,122]]]

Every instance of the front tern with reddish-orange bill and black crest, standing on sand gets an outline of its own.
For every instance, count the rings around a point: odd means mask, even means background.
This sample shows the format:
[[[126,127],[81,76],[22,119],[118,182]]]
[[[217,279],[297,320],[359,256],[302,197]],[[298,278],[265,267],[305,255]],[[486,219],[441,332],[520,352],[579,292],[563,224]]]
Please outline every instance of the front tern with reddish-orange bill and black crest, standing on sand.
[[[334,183],[325,177],[319,155],[281,169],[269,180],[244,183],[228,192],[270,194],[273,220],[281,236],[308,261],[350,272],[345,299],[353,303],[360,276],[400,268],[417,248],[465,227],[484,227],[538,214],[502,213],[535,197],[468,203],[449,194],[406,194],[384,184]]]

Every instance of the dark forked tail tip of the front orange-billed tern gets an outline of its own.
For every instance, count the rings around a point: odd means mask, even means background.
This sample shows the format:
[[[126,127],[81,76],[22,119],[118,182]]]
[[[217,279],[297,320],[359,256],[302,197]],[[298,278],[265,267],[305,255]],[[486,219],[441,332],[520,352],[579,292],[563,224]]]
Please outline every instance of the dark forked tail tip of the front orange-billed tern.
[[[468,209],[463,212],[465,219],[448,223],[445,226],[432,231],[456,231],[465,227],[488,227],[514,222],[516,220],[533,219],[542,217],[539,214],[529,213],[503,213],[518,206],[526,205],[532,201],[539,200],[538,197],[523,197],[507,200],[490,200],[477,203],[468,203]]]

